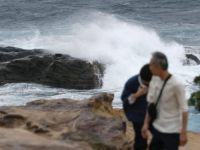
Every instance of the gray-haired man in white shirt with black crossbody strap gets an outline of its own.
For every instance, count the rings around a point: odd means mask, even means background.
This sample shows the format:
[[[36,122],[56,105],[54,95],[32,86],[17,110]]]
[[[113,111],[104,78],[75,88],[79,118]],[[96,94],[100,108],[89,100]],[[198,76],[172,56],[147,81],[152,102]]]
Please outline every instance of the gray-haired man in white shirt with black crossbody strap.
[[[149,150],[178,150],[179,145],[183,146],[187,143],[188,105],[185,91],[181,82],[174,75],[171,76],[167,69],[167,57],[161,52],[153,53],[150,62],[153,77],[149,85],[147,101],[150,105],[159,100]],[[161,96],[158,98],[160,93]],[[141,130],[143,138],[147,138],[150,119],[147,111]]]

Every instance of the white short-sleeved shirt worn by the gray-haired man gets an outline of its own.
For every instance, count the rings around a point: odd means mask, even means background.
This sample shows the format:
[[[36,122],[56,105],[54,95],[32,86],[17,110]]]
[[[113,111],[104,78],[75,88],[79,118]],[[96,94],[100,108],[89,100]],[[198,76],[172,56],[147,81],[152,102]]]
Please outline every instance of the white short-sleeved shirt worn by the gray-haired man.
[[[147,101],[152,103],[157,101],[157,97],[164,81],[158,76],[153,76],[149,85]],[[153,126],[161,133],[181,133],[182,113],[188,111],[185,91],[181,82],[171,76],[163,89],[162,95],[157,105],[157,118]]]

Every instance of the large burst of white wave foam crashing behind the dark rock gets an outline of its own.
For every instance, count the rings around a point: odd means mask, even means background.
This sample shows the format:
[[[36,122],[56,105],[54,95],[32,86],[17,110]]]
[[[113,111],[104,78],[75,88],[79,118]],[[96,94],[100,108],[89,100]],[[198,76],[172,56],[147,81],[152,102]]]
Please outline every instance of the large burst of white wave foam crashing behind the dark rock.
[[[198,75],[198,67],[182,65],[185,59],[182,45],[166,43],[155,31],[121,21],[112,15],[96,13],[90,18],[88,22],[71,25],[73,32],[70,35],[48,38],[44,47],[54,53],[66,53],[106,64],[103,89],[123,87],[129,77],[137,74],[150,61],[153,52],[161,51],[169,59],[170,72],[181,79],[190,93],[188,86]]]

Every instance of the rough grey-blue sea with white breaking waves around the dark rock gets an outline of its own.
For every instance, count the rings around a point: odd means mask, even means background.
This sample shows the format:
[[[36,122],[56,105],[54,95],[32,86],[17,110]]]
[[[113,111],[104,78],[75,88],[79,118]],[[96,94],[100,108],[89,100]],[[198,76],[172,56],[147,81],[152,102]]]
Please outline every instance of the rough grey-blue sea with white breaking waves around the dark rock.
[[[106,64],[102,89],[79,91],[38,84],[0,87],[0,105],[23,105],[37,99],[81,100],[100,92],[120,95],[128,78],[148,63],[152,52],[164,52],[169,71],[180,78],[186,97],[198,87],[197,65],[183,66],[185,48],[200,58],[199,0],[1,0],[0,46],[50,49]],[[190,51],[193,53],[194,50]],[[200,114],[190,107],[188,130],[200,132]]]

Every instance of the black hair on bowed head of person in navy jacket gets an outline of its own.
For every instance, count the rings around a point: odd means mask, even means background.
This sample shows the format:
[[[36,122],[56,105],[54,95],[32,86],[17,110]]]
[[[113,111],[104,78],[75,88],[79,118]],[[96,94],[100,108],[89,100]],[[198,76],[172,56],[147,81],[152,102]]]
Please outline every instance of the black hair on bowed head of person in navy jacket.
[[[151,81],[152,73],[151,70],[149,69],[149,64],[146,64],[142,67],[142,69],[140,70],[140,77],[144,81],[147,82]]]

